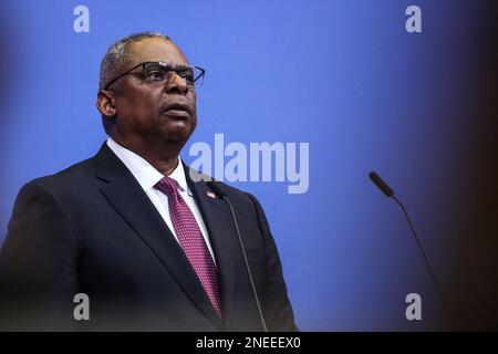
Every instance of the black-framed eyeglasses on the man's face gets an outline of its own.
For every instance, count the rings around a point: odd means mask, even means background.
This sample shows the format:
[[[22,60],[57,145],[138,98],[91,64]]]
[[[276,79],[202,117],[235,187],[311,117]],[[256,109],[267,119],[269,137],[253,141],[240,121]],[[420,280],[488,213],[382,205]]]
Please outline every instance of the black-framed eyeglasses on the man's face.
[[[165,62],[145,62],[133,66],[125,73],[113,79],[107,85],[105,85],[104,90],[108,90],[108,87],[121,77],[128,74],[134,74],[132,72],[141,66],[142,74],[144,75],[144,81],[148,83],[165,84],[172,79],[173,73],[176,73],[179,77],[185,80],[188,86],[196,88],[203,86],[204,75],[206,73],[204,69],[195,65],[177,65]]]

